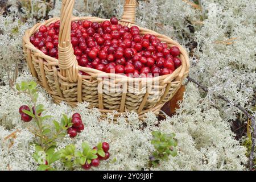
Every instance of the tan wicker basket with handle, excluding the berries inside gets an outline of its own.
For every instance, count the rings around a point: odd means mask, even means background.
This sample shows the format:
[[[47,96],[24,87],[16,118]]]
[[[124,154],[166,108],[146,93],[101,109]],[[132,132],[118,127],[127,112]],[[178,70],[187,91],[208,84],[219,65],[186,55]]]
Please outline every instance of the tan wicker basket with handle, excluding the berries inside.
[[[167,36],[139,27],[141,35],[153,34],[162,42],[166,42],[169,47],[179,47],[181,66],[170,75],[154,78],[130,78],[114,73],[104,73],[92,68],[80,67],[77,64],[72,44],[69,41],[71,37],[71,22],[76,20],[103,22],[109,19],[72,16],[74,3],[75,0],[63,0],[60,18],[51,18],[43,23],[37,23],[27,30],[23,36],[23,49],[32,76],[38,78],[39,84],[52,95],[56,103],[66,101],[67,104],[76,106],[77,102],[86,101],[89,102],[90,107],[97,107],[103,116],[114,112],[115,118],[131,110],[137,111],[139,118],[143,118],[148,111],[158,114],[161,107],[167,101],[170,101],[179,90],[182,81],[188,74],[189,61],[185,49]],[[119,23],[129,27],[135,25],[136,5],[137,2],[135,0],[125,1],[123,16]],[[40,26],[49,26],[49,24],[59,19],[59,60],[57,60],[35,48],[30,43],[30,36],[38,31]],[[79,71],[86,72],[88,76],[80,75]],[[106,78],[110,76],[115,78],[114,82]],[[136,84],[131,84],[132,82]],[[156,84],[150,86],[148,83],[152,82]],[[109,88],[111,84],[117,87],[121,84],[122,91],[106,92],[105,88]]]

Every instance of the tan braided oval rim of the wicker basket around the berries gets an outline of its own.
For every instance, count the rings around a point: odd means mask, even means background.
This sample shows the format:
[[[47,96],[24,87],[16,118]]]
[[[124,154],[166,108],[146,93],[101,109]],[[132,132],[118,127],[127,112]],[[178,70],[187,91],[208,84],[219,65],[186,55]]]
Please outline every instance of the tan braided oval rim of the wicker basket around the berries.
[[[85,19],[86,20],[91,20],[91,21],[94,21],[94,22],[103,22],[105,20],[110,20],[110,19],[98,18],[98,17],[95,17],[95,16],[81,16],[81,17],[72,16],[72,21],[85,20]],[[26,44],[24,44],[24,46],[29,48],[29,49],[32,49],[33,51],[36,52],[37,55],[46,59],[46,61],[47,61],[46,64],[49,64],[49,65],[59,65],[59,60],[56,59],[55,57],[51,57],[51,56],[48,56],[48,55],[44,54],[42,51],[40,51],[40,49],[36,48],[30,42],[30,36],[34,35],[35,32],[39,30],[40,26],[42,26],[42,25],[47,26],[48,24],[51,24],[53,21],[57,21],[57,20],[60,20],[60,17],[53,17],[53,18],[49,18],[48,20],[44,20],[43,22],[36,23],[33,27],[28,28],[28,30],[25,31],[25,34],[22,38],[23,42],[26,43]],[[141,31],[148,31],[148,34],[153,34],[153,35],[156,35],[156,36],[160,35],[162,38],[170,39],[172,41],[172,43],[174,43],[172,45],[179,47],[179,49],[182,50],[182,52],[184,52],[184,53],[181,53],[180,55],[183,55],[185,61],[184,62],[181,61],[181,66],[176,68],[175,71],[172,72],[171,74],[162,75],[162,76],[158,76],[158,77],[141,77],[141,78],[127,77],[125,75],[121,75],[121,74],[117,74],[117,73],[106,73],[106,72],[102,72],[102,71],[99,71],[99,70],[94,69],[94,68],[81,67],[80,65],[78,65],[77,71],[86,71],[86,72],[90,71],[90,72],[94,73],[93,76],[92,75],[89,75],[89,76],[84,76],[83,75],[82,78],[97,77],[98,75],[102,75],[102,77],[104,77],[104,76],[114,76],[114,77],[122,78],[122,81],[170,80],[170,78],[176,78],[178,75],[180,75],[181,69],[183,67],[185,67],[185,71],[183,72],[183,75],[180,77],[180,80],[183,80],[182,77],[184,75],[187,75],[187,73],[189,72],[189,67],[190,67],[188,53],[183,48],[183,46],[181,46],[175,40],[172,40],[170,37],[168,37],[166,35],[159,34],[158,32],[152,31],[148,28],[140,27],[135,23],[130,23],[130,27],[131,26],[137,26],[139,28],[140,32]],[[170,46],[168,46],[168,47],[170,47]]]

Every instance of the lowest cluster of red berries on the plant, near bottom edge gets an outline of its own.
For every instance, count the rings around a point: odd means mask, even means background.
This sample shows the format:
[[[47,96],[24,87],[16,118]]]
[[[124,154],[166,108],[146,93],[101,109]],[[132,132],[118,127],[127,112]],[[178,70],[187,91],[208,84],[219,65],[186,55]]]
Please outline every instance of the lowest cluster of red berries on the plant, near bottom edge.
[[[93,149],[98,150],[97,147],[93,147]],[[93,166],[93,167],[98,167],[98,166],[100,166],[100,160],[108,160],[108,159],[109,159],[109,156],[110,156],[110,154],[109,154],[109,152],[108,152],[108,151],[109,151],[109,143],[103,142],[103,143],[102,143],[102,150],[105,152],[105,157],[104,157],[104,158],[103,158],[102,156],[100,156],[100,155],[97,154],[98,158],[92,159],[92,162],[91,162],[90,164],[88,164],[88,163],[86,162],[84,165],[82,165],[82,168],[88,170],[88,169],[90,169],[90,167],[92,167],[92,166]]]

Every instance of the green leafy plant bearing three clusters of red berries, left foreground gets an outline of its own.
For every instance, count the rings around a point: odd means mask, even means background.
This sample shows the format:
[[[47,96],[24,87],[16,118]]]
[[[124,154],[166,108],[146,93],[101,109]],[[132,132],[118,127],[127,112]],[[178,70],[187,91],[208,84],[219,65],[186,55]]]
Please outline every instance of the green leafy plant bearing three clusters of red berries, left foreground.
[[[67,133],[69,137],[76,137],[77,133],[84,130],[84,123],[82,123],[81,115],[75,113],[72,118],[68,118],[63,114],[61,121],[53,120],[52,126],[47,125],[44,121],[51,118],[51,115],[42,116],[44,106],[37,104],[38,93],[36,89],[36,82],[22,82],[16,84],[18,93],[28,94],[30,96],[33,106],[23,105],[19,108],[22,121],[30,122],[35,120],[37,128],[28,126],[28,129],[35,134],[38,138],[36,142],[35,153],[33,155],[36,162],[38,162],[38,170],[54,170],[51,166],[56,160],[61,159],[65,166],[71,168],[73,162],[81,164],[85,169],[89,169],[90,166],[97,167],[100,165],[100,160],[106,160],[109,158],[109,144],[104,142],[99,143],[96,148],[90,150],[88,144],[82,143],[83,151],[75,151],[75,146],[69,145],[65,149],[56,151],[56,140],[64,137]],[[54,126],[54,131],[53,130]],[[75,158],[74,160],[72,158]]]

